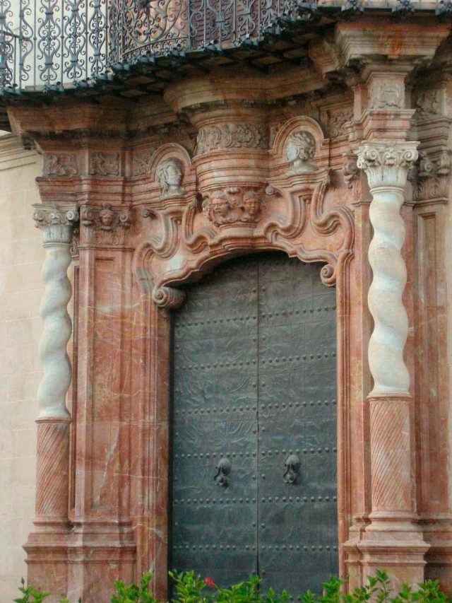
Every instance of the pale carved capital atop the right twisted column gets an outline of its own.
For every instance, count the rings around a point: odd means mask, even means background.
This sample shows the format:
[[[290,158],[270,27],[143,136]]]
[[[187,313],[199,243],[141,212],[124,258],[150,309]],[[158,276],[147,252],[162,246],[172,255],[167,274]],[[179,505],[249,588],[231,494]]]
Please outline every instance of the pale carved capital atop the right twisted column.
[[[417,160],[417,141],[365,142],[357,150],[357,167],[364,170],[369,188],[398,187],[403,189],[408,170]]]

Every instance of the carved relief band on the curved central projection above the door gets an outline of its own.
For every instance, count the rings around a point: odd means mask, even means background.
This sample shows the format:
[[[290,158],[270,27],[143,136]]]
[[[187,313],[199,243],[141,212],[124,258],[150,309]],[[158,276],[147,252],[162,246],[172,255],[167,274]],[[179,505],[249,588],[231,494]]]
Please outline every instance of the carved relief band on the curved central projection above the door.
[[[268,129],[260,124],[221,124],[201,128],[197,153],[225,148],[268,148]]]

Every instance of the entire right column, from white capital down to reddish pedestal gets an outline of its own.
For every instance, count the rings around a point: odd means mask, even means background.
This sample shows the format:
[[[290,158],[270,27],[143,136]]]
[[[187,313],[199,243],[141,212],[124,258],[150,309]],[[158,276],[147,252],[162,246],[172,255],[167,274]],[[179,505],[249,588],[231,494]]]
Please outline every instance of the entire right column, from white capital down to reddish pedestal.
[[[368,573],[388,568],[395,578],[422,580],[427,544],[415,525],[412,467],[412,395],[403,359],[408,316],[403,305],[407,269],[401,255],[405,225],[400,209],[408,170],[417,159],[416,142],[371,141],[357,151],[372,196],[369,245],[373,280],[369,310],[374,330],[369,368],[374,388],[368,401],[371,431],[371,524],[359,545]],[[400,561],[403,560],[403,566]],[[400,568],[403,567],[402,572]]]

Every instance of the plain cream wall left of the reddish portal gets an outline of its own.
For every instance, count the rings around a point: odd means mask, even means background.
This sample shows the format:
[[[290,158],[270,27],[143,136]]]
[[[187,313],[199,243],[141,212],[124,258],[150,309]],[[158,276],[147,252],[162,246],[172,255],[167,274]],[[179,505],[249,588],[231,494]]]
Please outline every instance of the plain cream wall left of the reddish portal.
[[[0,136],[0,603],[17,597],[26,577],[22,545],[34,510],[44,250],[31,206],[40,171],[35,151]]]

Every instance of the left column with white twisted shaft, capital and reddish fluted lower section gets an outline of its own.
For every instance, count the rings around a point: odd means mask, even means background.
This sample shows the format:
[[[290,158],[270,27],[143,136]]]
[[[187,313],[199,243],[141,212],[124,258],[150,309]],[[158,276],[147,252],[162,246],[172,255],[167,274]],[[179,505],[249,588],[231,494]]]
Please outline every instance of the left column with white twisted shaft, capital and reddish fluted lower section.
[[[71,362],[66,351],[71,336],[67,305],[71,283],[67,269],[76,208],[35,206],[35,223],[42,232],[46,259],[42,267],[44,295],[40,306],[43,331],[40,341],[42,381],[37,392],[37,475],[35,527],[59,530],[68,523],[69,426],[66,393],[71,382]]]

